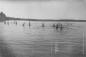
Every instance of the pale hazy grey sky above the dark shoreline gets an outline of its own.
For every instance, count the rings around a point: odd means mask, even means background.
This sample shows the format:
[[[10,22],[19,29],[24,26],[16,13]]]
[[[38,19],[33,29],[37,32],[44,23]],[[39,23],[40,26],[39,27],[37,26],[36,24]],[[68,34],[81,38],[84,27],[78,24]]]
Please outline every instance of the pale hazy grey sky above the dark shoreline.
[[[9,17],[35,19],[86,19],[86,0],[0,0]]]

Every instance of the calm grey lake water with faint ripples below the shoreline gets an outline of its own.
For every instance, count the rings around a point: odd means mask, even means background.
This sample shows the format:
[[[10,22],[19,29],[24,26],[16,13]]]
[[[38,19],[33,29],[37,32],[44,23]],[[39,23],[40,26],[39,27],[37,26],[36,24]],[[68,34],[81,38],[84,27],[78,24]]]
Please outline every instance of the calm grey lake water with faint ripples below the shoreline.
[[[5,21],[0,23],[0,53],[2,57],[84,57],[86,23]],[[71,25],[73,24],[73,25]],[[6,54],[6,56],[4,56]],[[9,55],[8,55],[9,54]]]

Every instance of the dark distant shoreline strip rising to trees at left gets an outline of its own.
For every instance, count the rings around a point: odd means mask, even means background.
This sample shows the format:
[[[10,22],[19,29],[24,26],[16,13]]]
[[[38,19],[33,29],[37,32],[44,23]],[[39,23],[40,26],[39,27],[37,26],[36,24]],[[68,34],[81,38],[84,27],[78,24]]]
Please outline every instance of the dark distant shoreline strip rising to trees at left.
[[[25,18],[15,18],[15,17],[7,17],[5,13],[0,13],[0,22],[6,21],[6,20],[20,20],[20,21],[41,21],[41,22],[86,22],[86,20],[76,20],[76,19],[25,19]]]

